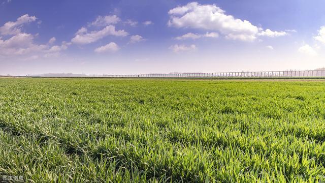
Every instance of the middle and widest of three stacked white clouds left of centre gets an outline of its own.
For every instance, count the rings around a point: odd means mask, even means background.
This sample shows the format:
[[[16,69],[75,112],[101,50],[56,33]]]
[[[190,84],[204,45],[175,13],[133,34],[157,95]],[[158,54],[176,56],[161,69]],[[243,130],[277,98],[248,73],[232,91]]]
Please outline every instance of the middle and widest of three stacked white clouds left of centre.
[[[124,37],[127,36],[128,33],[124,30],[116,31],[114,25],[108,25],[100,31],[92,31],[90,33],[87,33],[87,29],[82,27],[71,42],[75,44],[89,44],[110,35]]]

